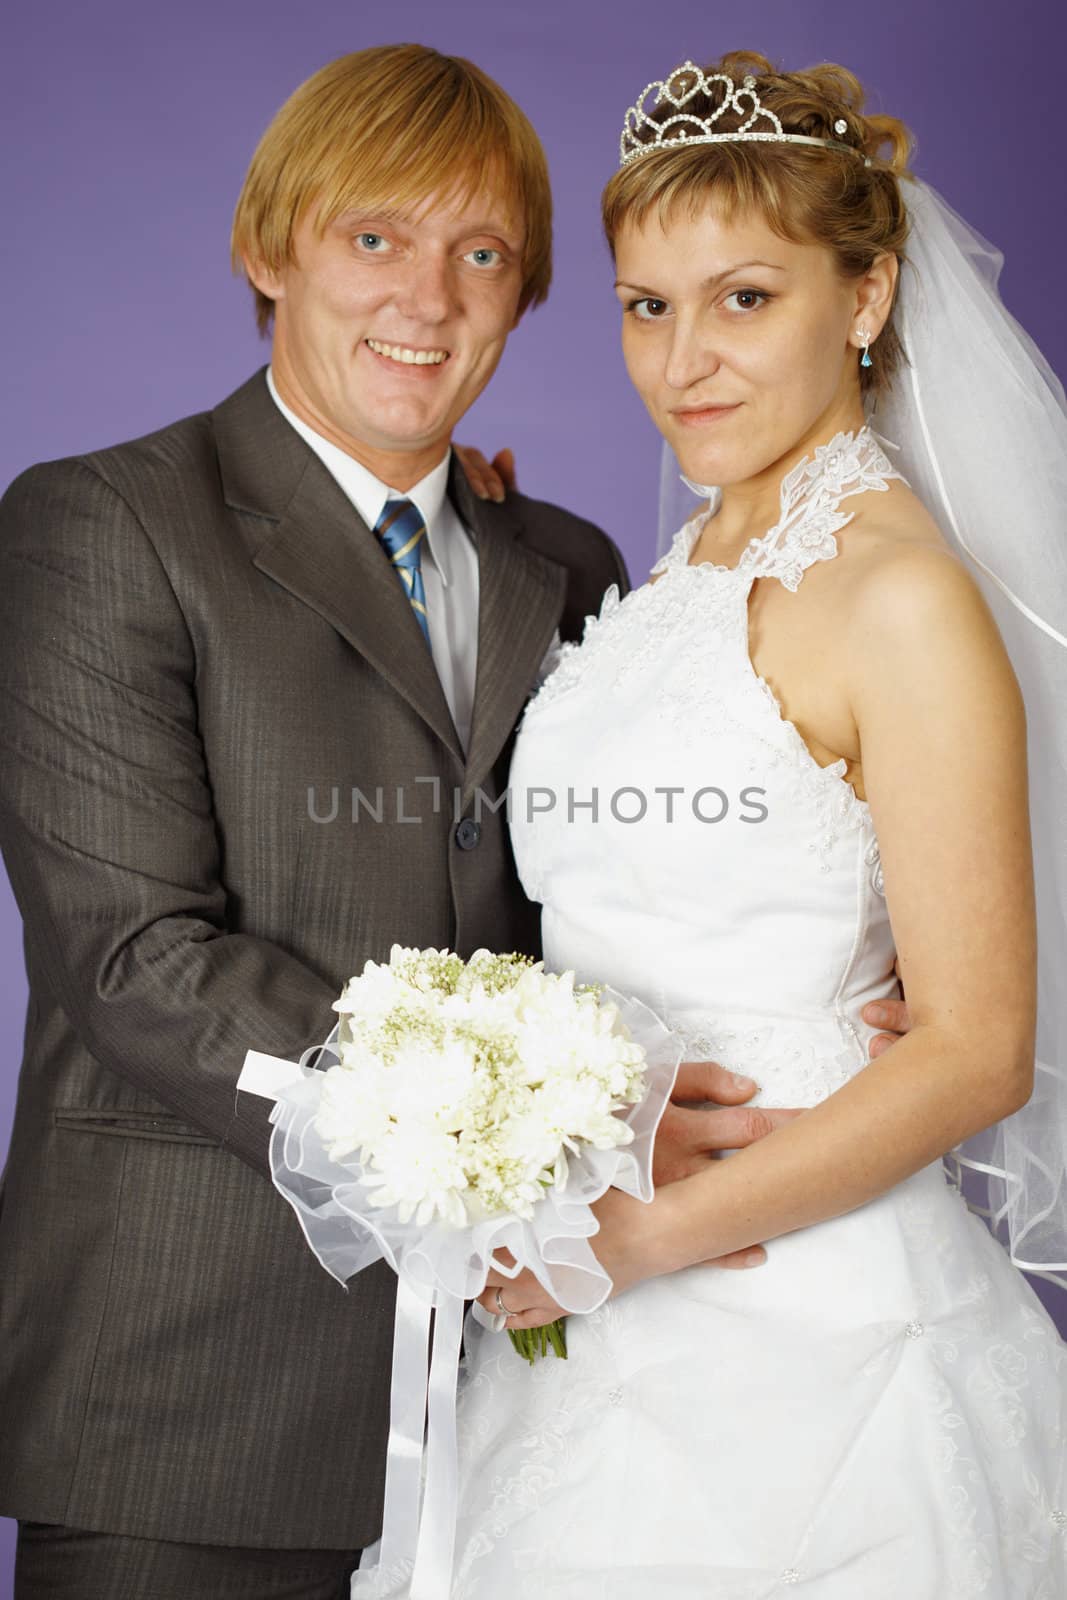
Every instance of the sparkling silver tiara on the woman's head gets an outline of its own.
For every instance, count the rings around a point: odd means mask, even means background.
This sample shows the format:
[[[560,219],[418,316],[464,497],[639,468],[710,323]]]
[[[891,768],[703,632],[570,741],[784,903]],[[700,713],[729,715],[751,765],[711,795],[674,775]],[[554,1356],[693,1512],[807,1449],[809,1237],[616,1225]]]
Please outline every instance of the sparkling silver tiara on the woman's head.
[[[704,91],[710,99],[712,83],[721,83],[725,90],[723,101],[712,115],[697,117],[696,112],[686,112],[685,107],[694,94]],[[653,90],[656,91],[653,109],[673,106],[677,115],[667,117],[664,122],[653,122],[645,109]],[[742,99],[747,101],[745,106],[741,104]],[[737,112],[742,118],[741,126],[734,133],[715,133],[715,123],[726,110]],[[758,122],[763,122],[765,126],[755,128],[753,123]],[[766,126],[768,123],[769,126]],[[673,138],[664,138],[669,128],[681,131]],[[651,130],[651,139],[640,138],[645,130]],[[833,123],[833,131],[848,133],[848,123],[843,117]],[[806,133],[784,133],[774,112],[761,104],[753,77],[742,78],[741,83],[734,83],[725,72],[712,72],[710,77],[704,77],[694,61],[683,61],[669,78],[649,83],[638,94],[637,104],[627,110],[619,139],[619,166],[629,166],[630,162],[640,160],[641,155],[653,155],[656,150],[673,150],[678,144],[726,144],[742,139],[763,139],[769,144],[819,144],[827,150],[848,150],[849,155],[862,157],[864,166],[872,165],[869,155],[857,150],[854,144],[845,144],[843,139],[816,139]]]

